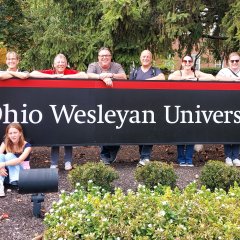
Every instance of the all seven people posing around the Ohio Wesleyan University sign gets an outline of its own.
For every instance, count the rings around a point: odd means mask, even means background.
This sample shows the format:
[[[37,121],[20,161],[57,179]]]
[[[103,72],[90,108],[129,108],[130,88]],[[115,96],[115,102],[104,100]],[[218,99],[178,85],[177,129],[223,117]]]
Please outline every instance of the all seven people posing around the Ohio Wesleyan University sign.
[[[142,51],[140,55],[141,66],[134,69],[129,80],[165,80],[162,71],[152,66],[152,53],[149,50]],[[186,55],[181,60],[181,68],[168,77],[168,80],[192,80],[192,81],[239,81],[240,80],[240,56],[233,52],[228,58],[228,67],[219,71],[216,77],[194,69],[193,58]],[[113,86],[113,79],[127,80],[127,75],[121,64],[112,61],[112,53],[109,48],[102,47],[98,51],[98,61],[89,64],[87,72],[79,72],[68,68],[68,62],[63,54],[58,54],[53,61],[53,68],[46,70],[35,70],[31,73],[18,69],[19,56],[16,52],[8,52],[6,55],[6,71],[0,71],[0,79],[17,77],[32,78],[80,78],[99,79],[106,86]],[[139,145],[140,165],[150,161],[152,145]],[[229,166],[240,166],[238,144],[224,145],[226,164]],[[120,146],[101,146],[100,159],[108,165],[116,160]],[[4,196],[3,179],[9,176],[11,184],[17,184],[21,168],[29,168],[29,156],[31,145],[24,139],[22,128],[17,123],[8,125],[5,139],[0,147],[0,196]],[[193,166],[194,145],[178,145],[178,163],[180,166]],[[51,168],[58,167],[59,146],[51,148]],[[72,169],[72,147],[65,146],[65,170]],[[7,169],[7,170],[6,170]]]

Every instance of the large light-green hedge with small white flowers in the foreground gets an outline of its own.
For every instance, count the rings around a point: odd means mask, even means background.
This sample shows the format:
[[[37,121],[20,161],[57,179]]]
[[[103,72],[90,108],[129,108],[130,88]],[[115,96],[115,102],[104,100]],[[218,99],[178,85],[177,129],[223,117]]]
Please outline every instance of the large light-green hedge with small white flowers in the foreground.
[[[62,193],[45,215],[45,240],[186,240],[231,239],[240,236],[240,188],[226,193],[197,190],[191,184],[182,192],[143,186],[135,193],[103,194],[76,185]]]

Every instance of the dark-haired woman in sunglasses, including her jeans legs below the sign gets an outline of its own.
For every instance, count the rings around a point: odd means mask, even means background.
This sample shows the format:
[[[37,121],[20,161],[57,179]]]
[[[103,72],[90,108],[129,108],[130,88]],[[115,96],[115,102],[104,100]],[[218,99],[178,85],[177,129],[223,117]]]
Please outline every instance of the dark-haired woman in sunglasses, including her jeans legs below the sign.
[[[212,74],[195,70],[193,59],[186,55],[182,58],[181,68],[169,75],[168,80],[208,81],[216,80]],[[194,145],[177,145],[178,163],[180,166],[193,167]]]

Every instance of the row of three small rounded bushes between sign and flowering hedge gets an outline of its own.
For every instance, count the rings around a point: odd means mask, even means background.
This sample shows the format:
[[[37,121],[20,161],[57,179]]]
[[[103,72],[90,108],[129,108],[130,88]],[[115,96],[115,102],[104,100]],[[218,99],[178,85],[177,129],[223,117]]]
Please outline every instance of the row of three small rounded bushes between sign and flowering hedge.
[[[107,191],[113,190],[112,182],[118,178],[118,173],[110,166],[103,163],[86,163],[76,167],[69,174],[70,182],[73,187],[80,183],[85,189],[88,181],[104,188]],[[143,167],[135,170],[135,178],[149,189],[160,184],[170,186],[172,189],[176,186],[177,175],[172,165],[152,161]],[[200,175],[200,184],[205,185],[211,191],[215,188],[222,188],[228,191],[234,182],[240,185],[240,171],[238,168],[229,167],[221,161],[209,161],[202,169]]]

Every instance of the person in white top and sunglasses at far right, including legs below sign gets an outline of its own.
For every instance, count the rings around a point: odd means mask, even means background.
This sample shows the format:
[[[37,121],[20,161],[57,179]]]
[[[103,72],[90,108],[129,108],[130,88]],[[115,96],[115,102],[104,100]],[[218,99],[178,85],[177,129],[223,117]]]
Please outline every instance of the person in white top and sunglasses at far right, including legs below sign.
[[[233,52],[228,57],[228,68],[222,68],[216,78],[220,81],[239,81],[240,80],[240,56]],[[239,144],[224,144],[225,162],[228,166],[240,166]]]

